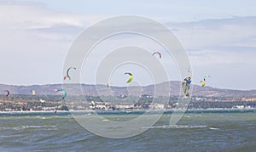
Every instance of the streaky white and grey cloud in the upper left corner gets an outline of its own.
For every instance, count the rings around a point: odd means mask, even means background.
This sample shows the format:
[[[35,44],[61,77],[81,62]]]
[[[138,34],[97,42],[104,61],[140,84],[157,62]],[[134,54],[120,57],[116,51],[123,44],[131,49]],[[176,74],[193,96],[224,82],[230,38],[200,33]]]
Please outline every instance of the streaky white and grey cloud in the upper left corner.
[[[31,37],[45,40],[69,40],[86,25],[108,15],[84,15],[59,12],[42,3],[1,3],[0,28],[3,31],[26,31]],[[0,29],[0,31],[1,31]],[[60,32],[60,30],[62,30]]]

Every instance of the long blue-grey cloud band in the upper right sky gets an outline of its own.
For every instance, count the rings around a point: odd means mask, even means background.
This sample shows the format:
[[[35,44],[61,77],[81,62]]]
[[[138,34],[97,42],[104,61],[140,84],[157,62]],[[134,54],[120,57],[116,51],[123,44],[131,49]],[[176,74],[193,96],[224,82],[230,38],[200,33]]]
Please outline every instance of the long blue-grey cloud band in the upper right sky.
[[[224,46],[255,47],[256,17],[236,17],[222,20],[201,20],[188,23],[167,23],[187,48]],[[253,39],[254,37],[254,39]],[[247,43],[248,42],[248,43]]]

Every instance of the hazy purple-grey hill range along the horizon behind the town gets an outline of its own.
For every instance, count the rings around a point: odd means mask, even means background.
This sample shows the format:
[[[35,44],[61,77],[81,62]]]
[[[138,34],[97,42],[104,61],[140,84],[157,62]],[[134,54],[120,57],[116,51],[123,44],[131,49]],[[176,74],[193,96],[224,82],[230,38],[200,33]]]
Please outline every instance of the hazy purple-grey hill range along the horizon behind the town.
[[[167,96],[167,87],[171,86],[171,95],[178,95],[181,87],[181,82],[163,82],[156,84],[156,87],[160,88],[160,95]],[[154,85],[148,85],[145,87],[107,87],[105,85],[87,85],[81,84],[66,84],[67,94],[82,95],[80,89],[82,88],[85,95],[122,95],[128,94],[150,94],[154,95]],[[32,86],[14,86],[0,84],[0,93],[4,94],[4,90],[9,90],[11,94],[31,94],[31,90],[35,90],[38,95],[55,95],[55,89],[60,89],[61,84],[45,84],[45,85],[32,85]],[[256,90],[232,90],[232,89],[220,89],[215,87],[201,87],[198,85],[192,86],[192,96],[206,96],[206,97],[247,97],[256,96]]]

